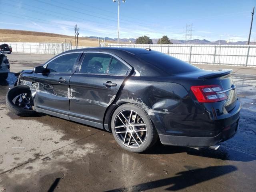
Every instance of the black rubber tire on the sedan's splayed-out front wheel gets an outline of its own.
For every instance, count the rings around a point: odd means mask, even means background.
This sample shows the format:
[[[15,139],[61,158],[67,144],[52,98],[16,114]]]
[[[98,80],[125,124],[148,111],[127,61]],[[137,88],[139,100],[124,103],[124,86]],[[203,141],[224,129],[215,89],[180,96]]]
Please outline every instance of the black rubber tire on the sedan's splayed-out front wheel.
[[[26,85],[18,85],[11,88],[6,94],[6,106],[15,115],[18,116],[36,116],[38,113],[32,109],[25,109],[16,106],[13,102],[14,98],[19,96],[20,94],[26,94],[27,96],[31,96],[30,88]],[[32,103],[30,103],[32,106]]]

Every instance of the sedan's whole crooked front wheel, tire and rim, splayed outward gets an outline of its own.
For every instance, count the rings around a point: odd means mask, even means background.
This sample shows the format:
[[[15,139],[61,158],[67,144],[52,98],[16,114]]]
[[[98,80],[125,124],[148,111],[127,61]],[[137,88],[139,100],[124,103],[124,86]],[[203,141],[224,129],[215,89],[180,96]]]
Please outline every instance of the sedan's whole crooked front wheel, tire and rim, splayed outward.
[[[35,116],[38,114],[32,110],[33,100],[28,86],[19,85],[10,89],[6,94],[6,106],[10,112],[18,116]]]

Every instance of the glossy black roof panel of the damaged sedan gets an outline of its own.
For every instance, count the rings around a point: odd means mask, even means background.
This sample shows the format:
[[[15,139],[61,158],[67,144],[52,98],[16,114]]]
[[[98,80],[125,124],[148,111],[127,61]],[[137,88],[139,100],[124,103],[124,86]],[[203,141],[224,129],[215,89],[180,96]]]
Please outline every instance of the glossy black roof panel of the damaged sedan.
[[[158,51],[151,50],[150,48],[120,48],[120,47],[91,47],[91,48],[82,48],[82,49],[74,49],[68,52],[73,51],[103,51],[103,52],[110,52],[110,53],[117,53],[117,52],[127,52],[133,55],[136,54],[148,54],[148,53],[161,53]]]

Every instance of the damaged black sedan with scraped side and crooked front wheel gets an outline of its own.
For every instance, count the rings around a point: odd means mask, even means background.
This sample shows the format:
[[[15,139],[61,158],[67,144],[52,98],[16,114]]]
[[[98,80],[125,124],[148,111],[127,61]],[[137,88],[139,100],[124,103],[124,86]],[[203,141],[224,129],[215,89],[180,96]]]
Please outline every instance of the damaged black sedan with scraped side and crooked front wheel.
[[[6,104],[111,131],[143,152],[162,144],[209,147],[236,134],[240,102],[232,70],[202,70],[150,49],[86,48],[21,72]]]

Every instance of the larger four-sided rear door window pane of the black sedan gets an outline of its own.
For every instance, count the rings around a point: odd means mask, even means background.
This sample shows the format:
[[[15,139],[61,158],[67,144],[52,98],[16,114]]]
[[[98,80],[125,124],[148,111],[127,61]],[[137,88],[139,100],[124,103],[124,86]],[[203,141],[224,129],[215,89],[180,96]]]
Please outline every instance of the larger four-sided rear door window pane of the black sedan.
[[[103,53],[86,53],[80,73],[106,74],[111,56]]]

